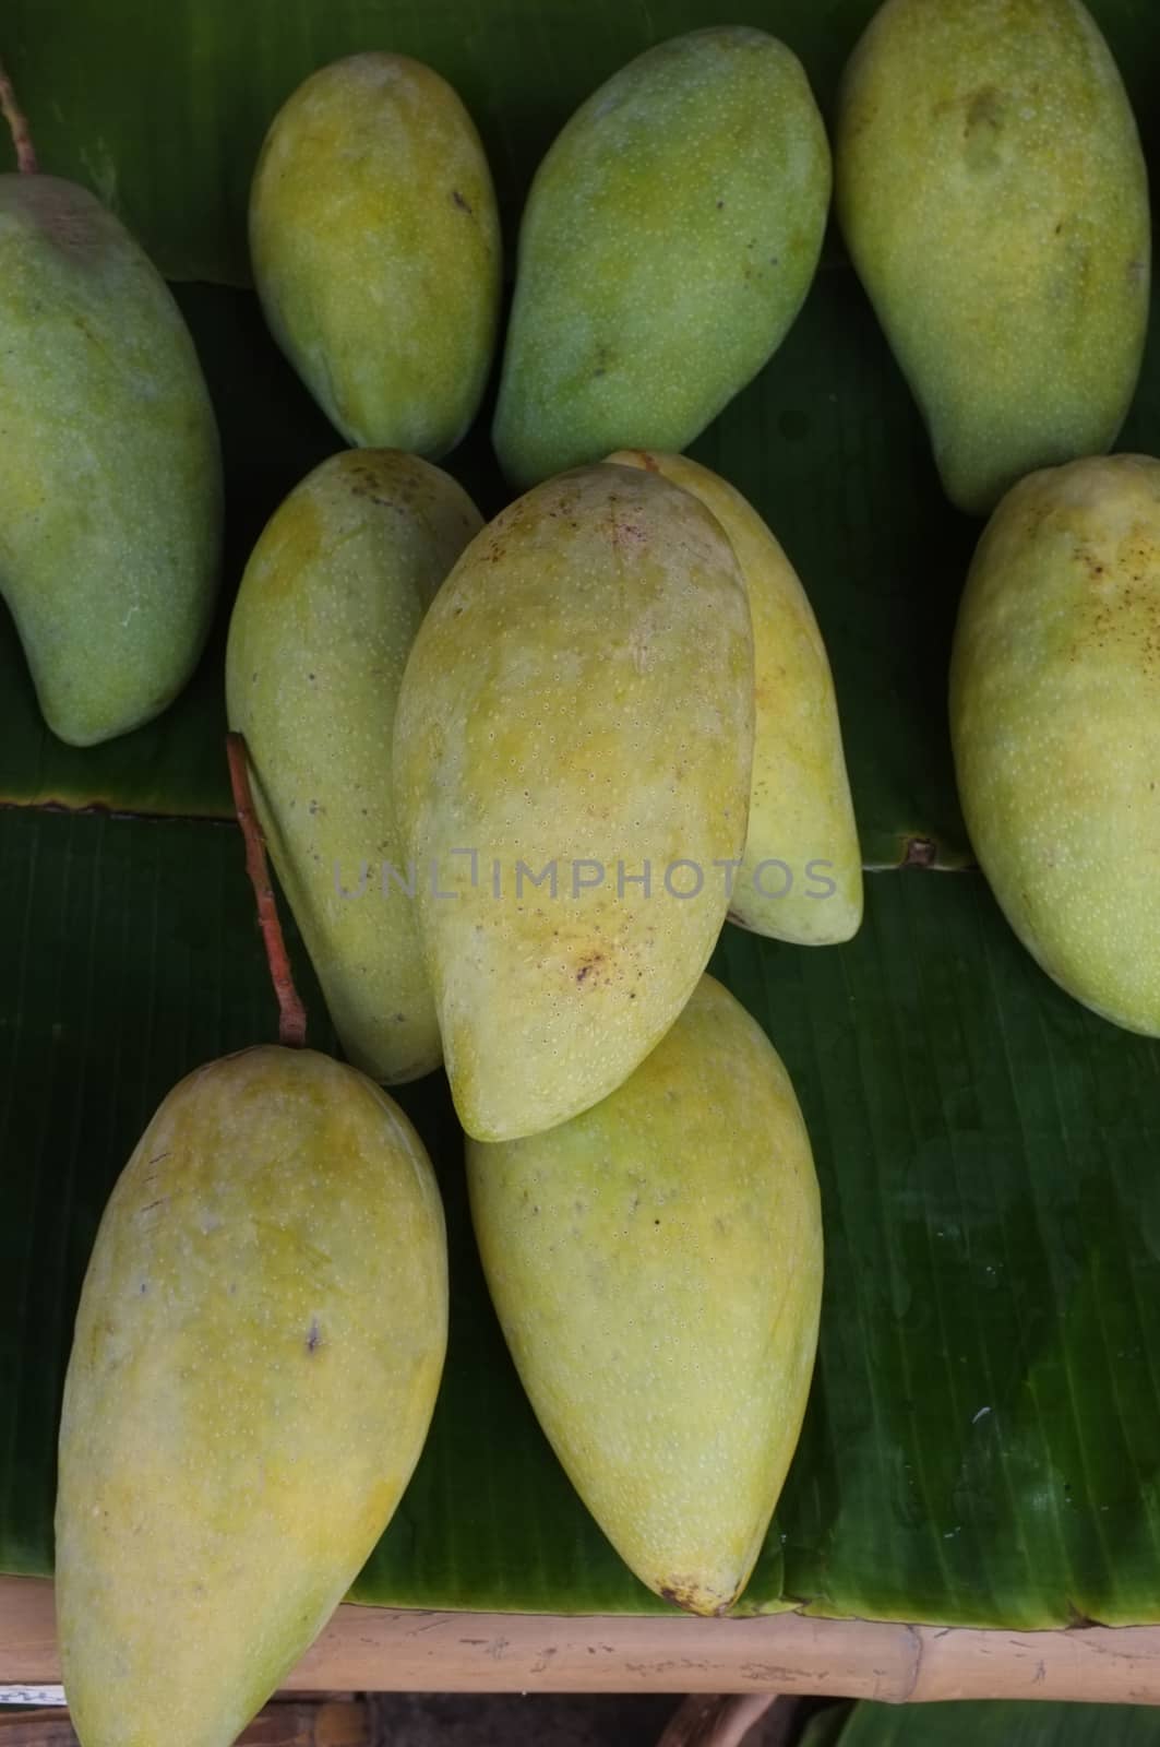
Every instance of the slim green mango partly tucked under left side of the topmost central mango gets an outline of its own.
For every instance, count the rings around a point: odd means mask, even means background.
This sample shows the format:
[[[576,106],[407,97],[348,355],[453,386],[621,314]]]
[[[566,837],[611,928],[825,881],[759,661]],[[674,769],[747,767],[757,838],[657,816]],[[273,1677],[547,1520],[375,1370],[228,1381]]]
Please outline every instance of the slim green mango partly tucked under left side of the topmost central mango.
[[[395,708],[416,631],[479,510],[447,473],[348,449],[274,512],[229,627],[229,723],[342,1048],[397,1085],[442,1060],[395,821]],[[384,868],[388,868],[384,875]]]

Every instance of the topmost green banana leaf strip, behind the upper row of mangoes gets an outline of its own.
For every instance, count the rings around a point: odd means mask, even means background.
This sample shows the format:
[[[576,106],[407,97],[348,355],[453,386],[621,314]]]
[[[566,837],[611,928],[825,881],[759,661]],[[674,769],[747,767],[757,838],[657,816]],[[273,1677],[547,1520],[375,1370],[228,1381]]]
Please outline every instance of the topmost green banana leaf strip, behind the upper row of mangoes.
[[[9,72],[45,168],[112,203],[175,280],[246,285],[262,136],[316,66],[414,54],[480,129],[507,234],[561,124],[624,61],[704,24],[756,24],[800,56],[826,115],[877,0],[9,0]],[[1151,0],[1088,0],[1155,159]]]

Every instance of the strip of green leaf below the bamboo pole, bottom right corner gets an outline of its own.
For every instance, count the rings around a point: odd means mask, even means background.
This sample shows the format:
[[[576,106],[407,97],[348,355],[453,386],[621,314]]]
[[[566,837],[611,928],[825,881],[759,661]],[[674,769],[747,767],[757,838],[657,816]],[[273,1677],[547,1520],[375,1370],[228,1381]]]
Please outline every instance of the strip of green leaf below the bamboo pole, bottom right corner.
[[[798,1747],[1158,1747],[1146,1705],[954,1700],[940,1705],[835,1705],[811,1719]]]

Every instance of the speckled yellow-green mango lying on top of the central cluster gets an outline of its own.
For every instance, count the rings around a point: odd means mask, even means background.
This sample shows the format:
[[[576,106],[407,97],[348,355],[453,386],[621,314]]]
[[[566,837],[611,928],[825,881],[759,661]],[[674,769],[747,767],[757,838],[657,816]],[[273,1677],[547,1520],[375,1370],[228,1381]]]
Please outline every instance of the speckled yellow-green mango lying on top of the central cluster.
[[[395,720],[404,846],[438,868],[419,880],[419,935],[468,1134],[566,1122],[667,1031],[725,921],[713,861],[741,856],[751,756],[744,582],[695,498],[578,468],[472,542]],[[458,849],[477,853],[475,884]],[[702,870],[695,896],[664,886],[681,858]],[[517,891],[517,861],[556,865],[556,896],[550,877]],[[629,882],[645,861],[648,894]],[[671,884],[692,893],[695,874]]]

